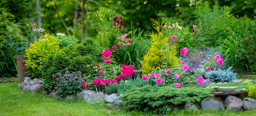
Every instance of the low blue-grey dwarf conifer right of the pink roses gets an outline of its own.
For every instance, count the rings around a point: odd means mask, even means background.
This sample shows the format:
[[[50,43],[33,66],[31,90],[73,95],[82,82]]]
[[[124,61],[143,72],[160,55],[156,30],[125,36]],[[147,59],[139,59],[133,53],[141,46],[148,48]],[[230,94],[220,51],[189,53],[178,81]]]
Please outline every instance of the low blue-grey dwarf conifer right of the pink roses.
[[[218,70],[211,71],[206,73],[206,78],[211,82],[232,82],[232,80],[236,79],[236,73],[230,71],[232,67],[229,67],[227,70]]]

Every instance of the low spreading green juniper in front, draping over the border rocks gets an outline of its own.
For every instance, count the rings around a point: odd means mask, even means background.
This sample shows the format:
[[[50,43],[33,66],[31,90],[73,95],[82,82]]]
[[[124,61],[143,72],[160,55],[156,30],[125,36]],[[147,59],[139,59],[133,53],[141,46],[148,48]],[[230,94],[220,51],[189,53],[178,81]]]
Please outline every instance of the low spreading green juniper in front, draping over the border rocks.
[[[173,86],[133,87],[123,92],[119,97],[123,102],[119,104],[125,110],[144,110],[154,113],[168,113],[171,107],[185,104],[186,102],[200,102],[205,97],[210,97],[212,88],[181,87]]]

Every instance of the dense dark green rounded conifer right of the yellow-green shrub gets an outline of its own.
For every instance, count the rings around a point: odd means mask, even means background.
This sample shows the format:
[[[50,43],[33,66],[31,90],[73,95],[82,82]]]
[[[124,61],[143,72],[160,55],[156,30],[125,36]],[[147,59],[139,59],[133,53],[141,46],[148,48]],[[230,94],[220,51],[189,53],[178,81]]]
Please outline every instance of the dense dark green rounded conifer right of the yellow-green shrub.
[[[57,72],[64,74],[65,68],[68,68],[70,72],[80,71],[82,74],[90,75],[96,73],[93,71],[93,66],[101,61],[101,49],[96,41],[86,38],[83,39],[83,44],[70,44],[59,52],[47,56],[42,61],[44,65],[41,67],[41,73],[45,78],[45,84],[55,87],[52,75]]]

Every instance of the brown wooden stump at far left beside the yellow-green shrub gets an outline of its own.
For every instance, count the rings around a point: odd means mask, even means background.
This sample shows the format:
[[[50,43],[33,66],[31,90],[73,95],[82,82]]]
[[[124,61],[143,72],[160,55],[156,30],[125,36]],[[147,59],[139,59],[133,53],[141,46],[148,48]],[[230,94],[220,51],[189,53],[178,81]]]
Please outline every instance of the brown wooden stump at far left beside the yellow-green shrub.
[[[16,56],[16,63],[17,63],[17,72],[18,72],[18,80],[19,83],[22,82],[22,80],[24,79],[24,77],[28,76],[28,72],[29,69],[25,68],[25,62],[24,60],[27,60],[27,57],[24,57],[25,55],[17,55]]]

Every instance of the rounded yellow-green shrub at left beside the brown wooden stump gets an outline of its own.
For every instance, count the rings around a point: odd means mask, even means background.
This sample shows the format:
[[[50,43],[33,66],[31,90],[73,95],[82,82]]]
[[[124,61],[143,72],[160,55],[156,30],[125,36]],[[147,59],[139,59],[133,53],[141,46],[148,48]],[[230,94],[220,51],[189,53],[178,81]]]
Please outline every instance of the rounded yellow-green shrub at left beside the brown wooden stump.
[[[38,41],[32,43],[28,48],[25,49],[27,60],[25,60],[26,68],[30,69],[28,71],[29,75],[32,77],[40,78],[40,67],[43,65],[41,60],[46,58],[48,54],[53,54],[59,51],[59,42],[54,36],[47,34],[43,36]]]

